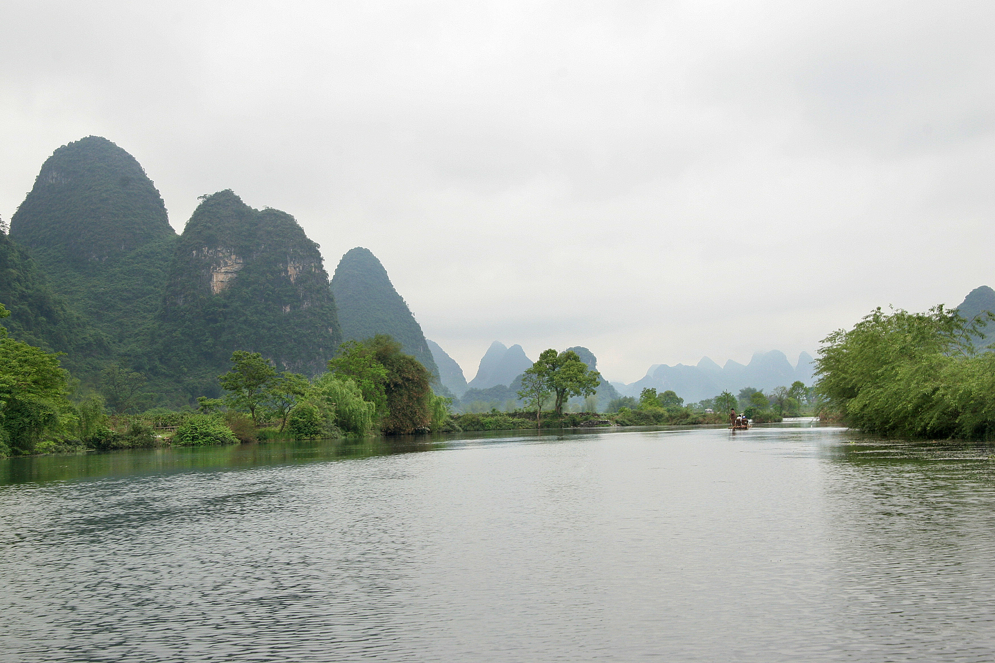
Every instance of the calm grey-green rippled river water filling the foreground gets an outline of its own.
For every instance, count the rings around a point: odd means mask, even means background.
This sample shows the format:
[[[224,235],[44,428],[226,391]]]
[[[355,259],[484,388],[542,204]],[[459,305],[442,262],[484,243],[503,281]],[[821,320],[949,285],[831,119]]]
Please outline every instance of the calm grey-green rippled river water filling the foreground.
[[[991,661],[995,449],[811,424],[0,461],[3,661]]]

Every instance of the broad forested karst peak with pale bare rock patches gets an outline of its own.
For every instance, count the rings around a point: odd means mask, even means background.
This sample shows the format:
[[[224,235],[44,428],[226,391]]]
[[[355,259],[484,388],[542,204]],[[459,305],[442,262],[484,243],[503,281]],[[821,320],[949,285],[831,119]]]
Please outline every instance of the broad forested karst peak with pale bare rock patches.
[[[205,197],[176,243],[159,320],[163,368],[193,395],[217,392],[235,350],[313,375],[342,340],[317,245],[231,191]]]

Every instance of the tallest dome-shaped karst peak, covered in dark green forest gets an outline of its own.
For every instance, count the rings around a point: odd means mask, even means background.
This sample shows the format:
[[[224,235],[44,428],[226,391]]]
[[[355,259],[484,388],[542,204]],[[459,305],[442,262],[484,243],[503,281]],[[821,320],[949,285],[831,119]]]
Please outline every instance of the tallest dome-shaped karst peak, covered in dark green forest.
[[[129,352],[158,309],[176,239],[134,157],[99,136],[60,147],[11,219],[10,235],[31,249],[70,306]]]

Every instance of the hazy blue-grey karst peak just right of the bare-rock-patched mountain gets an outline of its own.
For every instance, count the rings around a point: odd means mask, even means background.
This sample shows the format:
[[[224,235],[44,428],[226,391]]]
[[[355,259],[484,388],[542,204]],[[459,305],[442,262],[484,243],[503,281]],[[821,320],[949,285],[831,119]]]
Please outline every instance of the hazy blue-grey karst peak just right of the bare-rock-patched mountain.
[[[350,249],[335,267],[331,291],[338,304],[338,318],[346,339],[362,340],[376,334],[389,334],[439,377],[432,352],[421,325],[394,289],[387,270],[369,249]]]

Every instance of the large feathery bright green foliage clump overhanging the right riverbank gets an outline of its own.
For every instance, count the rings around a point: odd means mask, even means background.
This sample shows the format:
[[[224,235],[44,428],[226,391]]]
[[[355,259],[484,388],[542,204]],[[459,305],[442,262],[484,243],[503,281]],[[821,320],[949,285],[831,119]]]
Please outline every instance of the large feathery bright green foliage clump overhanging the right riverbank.
[[[876,309],[823,341],[816,366],[824,409],[883,435],[991,439],[995,353],[977,354],[973,342],[986,322],[942,305]]]

